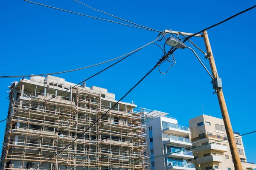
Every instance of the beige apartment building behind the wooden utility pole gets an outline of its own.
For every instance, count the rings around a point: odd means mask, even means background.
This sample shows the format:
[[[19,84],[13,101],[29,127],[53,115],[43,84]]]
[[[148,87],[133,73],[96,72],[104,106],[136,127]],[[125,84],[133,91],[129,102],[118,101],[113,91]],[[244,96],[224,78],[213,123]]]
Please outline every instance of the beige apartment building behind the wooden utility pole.
[[[227,140],[226,130],[223,119],[212,116],[201,115],[189,120],[189,127],[192,132],[192,144],[194,159],[189,162],[194,163],[197,170],[234,170],[231,157],[230,147]],[[239,136],[238,132],[234,132],[235,137]],[[252,170],[256,168],[254,163],[247,162],[242,137],[236,139],[243,170]],[[208,144],[217,142],[214,144]],[[207,145],[205,145],[207,144]],[[202,146],[205,145],[205,146]],[[199,147],[201,146],[201,147]]]

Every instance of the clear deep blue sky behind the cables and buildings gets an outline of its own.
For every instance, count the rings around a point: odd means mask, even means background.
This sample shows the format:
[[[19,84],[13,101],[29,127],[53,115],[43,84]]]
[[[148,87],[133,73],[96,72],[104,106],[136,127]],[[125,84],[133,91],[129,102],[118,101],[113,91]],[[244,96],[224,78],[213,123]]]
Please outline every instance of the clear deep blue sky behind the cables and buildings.
[[[73,0],[37,2],[118,21]],[[254,0],[81,2],[157,30],[170,28],[191,33],[255,5]],[[0,6],[0,75],[44,74],[96,64],[139,48],[154,40],[158,34],[23,0],[1,1]],[[256,130],[255,16],[256,9],[253,9],[208,31],[233,130],[240,133]],[[192,41],[205,49],[202,38],[194,37]],[[200,51],[198,54],[201,54]],[[150,45],[90,79],[86,82],[87,86],[107,88],[119,99],[162,55],[160,48]],[[162,75],[156,69],[124,101],[134,101],[138,107],[167,112],[176,117],[180,125],[185,126],[189,119],[203,113],[201,105],[204,105],[205,114],[221,118],[209,75],[189,49],[177,50],[175,55],[177,63],[168,74]],[[56,76],[78,83],[107,65]],[[163,65],[163,70],[167,67]],[[6,118],[8,110],[7,85],[18,80],[0,79],[1,119]],[[5,122],[0,123],[0,141],[3,141],[5,126]],[[248,161],[256,162],[255,141],[256,133],[243,137]]]

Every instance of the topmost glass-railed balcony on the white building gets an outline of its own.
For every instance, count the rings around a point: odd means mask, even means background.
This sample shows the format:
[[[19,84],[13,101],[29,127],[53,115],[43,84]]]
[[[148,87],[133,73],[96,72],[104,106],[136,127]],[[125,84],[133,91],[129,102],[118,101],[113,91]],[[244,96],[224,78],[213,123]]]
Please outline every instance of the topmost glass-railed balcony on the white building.
[[[186,136],[190,134],[189,127],[180,126],[174,123],[166,123],[162,126],[162,132],[171,133],[180,136]]]

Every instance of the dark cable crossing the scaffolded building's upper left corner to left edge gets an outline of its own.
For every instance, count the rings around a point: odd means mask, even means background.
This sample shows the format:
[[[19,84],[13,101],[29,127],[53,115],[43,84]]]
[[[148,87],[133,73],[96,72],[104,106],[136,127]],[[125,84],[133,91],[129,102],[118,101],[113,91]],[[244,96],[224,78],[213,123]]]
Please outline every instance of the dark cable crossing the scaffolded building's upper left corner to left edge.
[[[158,38],[157,38],[157,39],[158,39]],[[157,39],[155,39],[155,40],[154,40],[154,41],[152,41],[152,42],[155,42]],[[131,53],[131,52],[130,52],[130,53],[128,53],[128,54],[129,54],[128,56],[126,56],[126,57],[124,57],[124,58],[122,58],[122,59],[118,60],[117,62],[115,62],[115,63],[113,63],[112,65],[108,66],[107,68],[103,69],[102,71],[99,71],[98,73],[96,73],[96,74],[94,74],[93,76],[91,76],[91,77],[89,77],[89,78],[85,79],[84,81],[82,81],[82,82],[80,82],[80,83],[78,83],[78,84],[74,85],[74,86],[73,86],[73,87],[71,87],[71,88],[74,88],[74,87],[76,87],[77,85],[79,85],[79,84],[81,84],[81,83],[83,83],[83,82],[87,81],[88,79],[95,77],[96,75],[98,75],[98,74],[100,74],[101,72],[103,72],[103,71],[107,70],[108,68],[112,67],[113,65],[116,65],[117,63],[119,63],[119,62],[120,62],[120,61],[122,61],[123,59],[125,59],[125,58],[127,58],[127,57],[131,56],[132,54],[134,54],[135,52],[139,51],[140,49],[142,49],[142,48],[144,48],[144,47],[146,47],[146,46],[150,45],[152,42],[149,42],[148,44],[143,45],[142,47],[140,47],[140,48],[138,48],[138,49],[136,49],[136,50],[132,51],[132,53]],[[69,88],[69,89],[67,89],[67,90],[65,90],[65,91],[63,91],[63,92],[61,92],[60,94],[63,94],[64,92],[66,92],[66,91],[70,90],[71,88]],[[58,94],[58,95],[56,95],[56,96],[59,96],[60,94]],[[22,112],[20,112],[20,113],[18,113],[18,114],[16,114],[16,115],[13,115],[13,116],[10,116],[9,118],[3,119],[3,120],[1,120],[0,122],[3,122],[3,121],[5,121],[5,120],[8,120],[8,119],[10,119],[10,118],[12,118],[12,117],[15,117],[15,116],[17,116],[17,115],[21,114],[21,113],[24,113],[24,112],[26,112],[26,111],[29,111],[29,110],[30,110],[30,109],[32,109],[32,108],[36,108],[37,106],[42,105],[42,104],[44,104],[45,102],[48,102],[49,100],[51,100],[51,99],[55,98],[56,96],[54,96],[54,97],[52,97],[52,98],[50,98],[50,99],[47,99],[46,101],[44,101],[44,102],[42,102],[42,103],[40,103],[40,104],[38,104],[38,105],[36,105],[36,106],[33,106],[33,107],[31,107],[31,108],[28,108],[28,109],[26,109],[25,111],[22,111]]]

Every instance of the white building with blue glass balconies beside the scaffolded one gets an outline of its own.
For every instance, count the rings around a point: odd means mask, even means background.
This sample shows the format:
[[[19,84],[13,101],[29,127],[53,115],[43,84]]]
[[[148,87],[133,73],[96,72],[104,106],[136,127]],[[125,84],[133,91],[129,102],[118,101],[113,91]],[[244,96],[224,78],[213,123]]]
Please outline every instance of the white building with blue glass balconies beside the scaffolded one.
[[[175,118],[166,116],[168,113],[141,110],[146,116],[147,152],[152,158],[149,170],[195,170],[194,164],[187,163],[194,158],[192,151],[181,151],[192,147],[189,127],[178,125]]]

